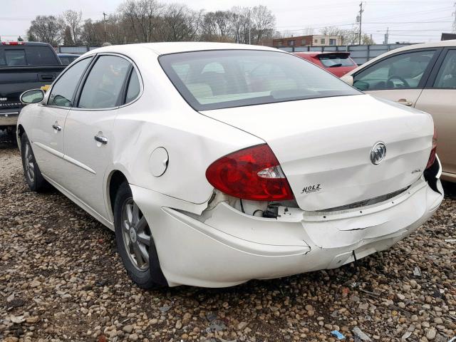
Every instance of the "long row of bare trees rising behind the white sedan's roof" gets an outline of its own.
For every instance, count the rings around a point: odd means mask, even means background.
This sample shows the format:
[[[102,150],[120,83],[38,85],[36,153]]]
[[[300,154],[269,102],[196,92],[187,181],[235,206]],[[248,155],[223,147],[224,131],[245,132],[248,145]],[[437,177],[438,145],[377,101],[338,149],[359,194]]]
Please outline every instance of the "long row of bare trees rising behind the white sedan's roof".
[[[185,4],[158,0],[124,0],[106,20],[82,21],[81,12],[64,11],[60,19],[38,16],[28,38],[97,46],[151,41],[230,41],[261,43],[273,38],[275,16],[266,6],[233,7],[227,11],[195,11]]]

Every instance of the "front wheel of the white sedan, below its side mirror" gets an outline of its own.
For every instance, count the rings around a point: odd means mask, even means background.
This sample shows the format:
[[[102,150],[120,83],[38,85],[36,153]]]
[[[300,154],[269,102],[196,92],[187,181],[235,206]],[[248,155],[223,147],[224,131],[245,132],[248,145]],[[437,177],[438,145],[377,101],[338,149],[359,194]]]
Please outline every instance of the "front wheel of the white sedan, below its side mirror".
[[[24,133],[21,138],[21,157],[24,175],[26,176],[26,182],[30,190],[36,192],[48,190],[49,183],[43,178],[43,175],[41,175],[40,168],[36,163],[35,155],[33,155],[33,150],[31,149],[30,141],[28,140],[26,133]]]

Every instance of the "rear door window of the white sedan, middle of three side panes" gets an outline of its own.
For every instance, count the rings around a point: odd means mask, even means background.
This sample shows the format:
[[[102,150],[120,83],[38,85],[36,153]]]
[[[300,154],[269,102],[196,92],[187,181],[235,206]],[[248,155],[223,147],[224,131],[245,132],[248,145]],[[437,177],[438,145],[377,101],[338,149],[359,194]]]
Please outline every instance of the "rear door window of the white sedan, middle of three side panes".
[[[131,63],[118,56],[100,56],[90,70],[78,107],[113,108],[119,104],[120,92]]]

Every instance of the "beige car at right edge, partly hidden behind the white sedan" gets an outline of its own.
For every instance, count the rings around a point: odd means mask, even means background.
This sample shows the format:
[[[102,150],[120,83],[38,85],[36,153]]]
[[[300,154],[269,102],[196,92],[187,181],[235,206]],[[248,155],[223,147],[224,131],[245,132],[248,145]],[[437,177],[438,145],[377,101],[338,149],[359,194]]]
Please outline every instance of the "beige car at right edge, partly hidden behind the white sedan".
[[[343,80],[364,93],[430,113],[442,179],[456,182],[456,41],[398,48],[350,71]]]

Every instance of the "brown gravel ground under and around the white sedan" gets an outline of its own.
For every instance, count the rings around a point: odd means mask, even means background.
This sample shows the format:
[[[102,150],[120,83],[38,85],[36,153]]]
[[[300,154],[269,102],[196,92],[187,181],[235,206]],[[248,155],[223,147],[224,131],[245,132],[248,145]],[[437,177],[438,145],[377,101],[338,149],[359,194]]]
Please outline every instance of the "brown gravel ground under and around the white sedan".
[[[448,341],[456,335],[456,199],[386,252],[229,289],[143,291],[112,232],[60,193],[30,192],[0,142],[4,341]],[[420,275],[414,275],[419,271]],[[362,340],[357,340],[362,341]],[[368,340],[366,340],[368,341]]]

